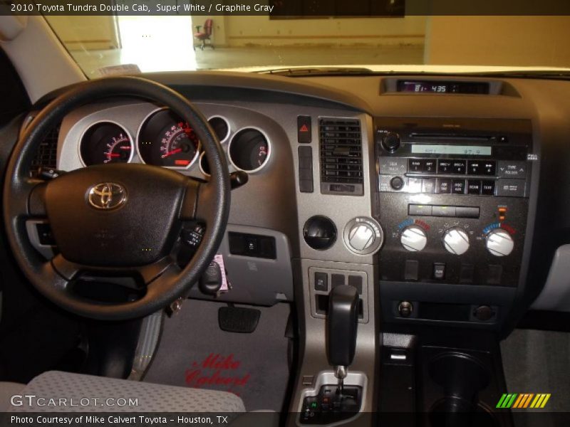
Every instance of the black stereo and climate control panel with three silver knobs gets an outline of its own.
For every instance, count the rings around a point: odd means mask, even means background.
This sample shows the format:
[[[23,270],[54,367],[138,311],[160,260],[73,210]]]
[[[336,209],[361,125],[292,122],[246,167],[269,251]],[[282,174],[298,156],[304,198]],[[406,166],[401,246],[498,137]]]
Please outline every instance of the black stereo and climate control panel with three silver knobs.
[[[523,280],[530,122],[378,120],[375,142],[384,320],[497,324]]]

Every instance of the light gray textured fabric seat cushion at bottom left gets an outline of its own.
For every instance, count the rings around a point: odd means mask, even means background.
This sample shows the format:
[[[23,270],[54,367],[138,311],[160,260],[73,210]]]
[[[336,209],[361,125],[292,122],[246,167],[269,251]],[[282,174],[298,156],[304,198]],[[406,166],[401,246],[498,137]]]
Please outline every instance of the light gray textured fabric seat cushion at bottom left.
[[[4,388],[0,383],[0,387]],[[21,390],[21,389],[20,389]],[[35,395],[16,412],[244,412],[242,399],[226,391],[163,386],[100,376],[49,371],[36,376],[19,394]],[[44,398],[40,401],[38,399]],[[49,399],[54,399],[50,404]],[[67,399],[66,404],[56,404]],[[71,400],[73,399],[73,401]],[[82,400],[83,399],[83,400]],[[95,401],[94,399],[98,399]],[[115,399],[109,402],[108,399]],[[126,399],[123,402],[120,399]],[[129,399],[138,404],[129,405]],[[110,405],[113,404],[113,405]],[[76,406],[73,406],[76,405]]]

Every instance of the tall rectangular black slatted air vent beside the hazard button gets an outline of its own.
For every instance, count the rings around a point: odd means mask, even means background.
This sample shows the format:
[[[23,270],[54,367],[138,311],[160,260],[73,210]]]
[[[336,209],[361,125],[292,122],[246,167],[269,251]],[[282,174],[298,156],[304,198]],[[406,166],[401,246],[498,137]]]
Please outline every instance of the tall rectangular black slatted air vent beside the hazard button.
[[[322,118],[318,122],[321,149],[321,193],[364,194],[360,120]]]

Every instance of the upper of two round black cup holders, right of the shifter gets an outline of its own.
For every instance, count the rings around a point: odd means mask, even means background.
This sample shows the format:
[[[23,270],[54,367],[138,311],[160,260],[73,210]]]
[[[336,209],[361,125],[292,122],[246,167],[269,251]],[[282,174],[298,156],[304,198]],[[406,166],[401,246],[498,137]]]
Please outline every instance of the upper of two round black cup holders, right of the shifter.
[[[489,385],[489,369],[475,357],[459,352],[445,352],[430,362],[430,377],[442,387],[444,396],[476,405],[477,394]]]

